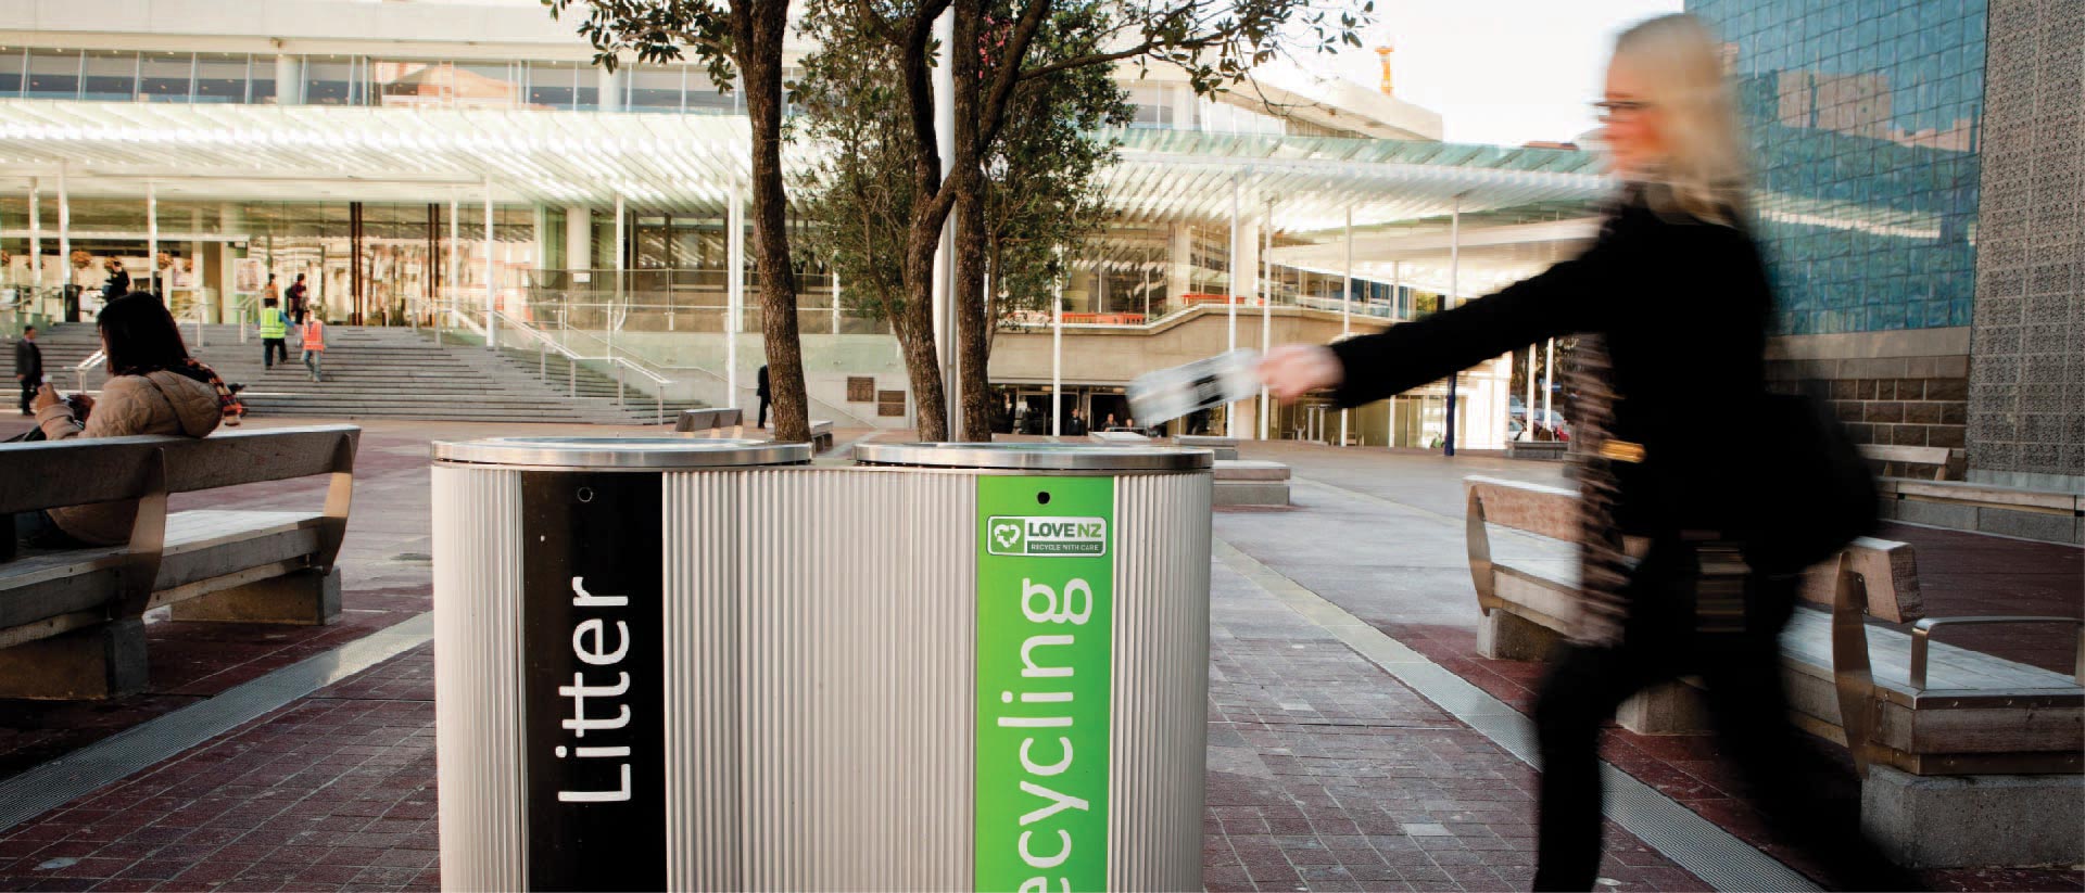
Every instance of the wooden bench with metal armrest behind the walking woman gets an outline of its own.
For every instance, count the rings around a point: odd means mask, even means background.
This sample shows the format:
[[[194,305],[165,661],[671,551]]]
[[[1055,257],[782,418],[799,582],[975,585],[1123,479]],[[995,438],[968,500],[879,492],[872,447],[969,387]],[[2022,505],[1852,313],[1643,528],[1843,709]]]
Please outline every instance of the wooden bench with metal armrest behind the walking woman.
[[[1578,495],[1466,479],[1478,652],[1541,660],[1576,612],[1576,556],[1501,560],[1489,525],[1576,537]],[[1912,866],[2075,864],[2085,858],[2085,643],[2072,674],[1931,641],[1954,624],[2075,618],[1927,618],[1910,543],[1858,539],[1812,568],[1781,635],[1791,718],[1847,745],[1870,833]],[[1910,633],[1866,618],[1914,624]],[[1618,720],[1637,733],[1703,731],[1695,681],[1645,691]]]

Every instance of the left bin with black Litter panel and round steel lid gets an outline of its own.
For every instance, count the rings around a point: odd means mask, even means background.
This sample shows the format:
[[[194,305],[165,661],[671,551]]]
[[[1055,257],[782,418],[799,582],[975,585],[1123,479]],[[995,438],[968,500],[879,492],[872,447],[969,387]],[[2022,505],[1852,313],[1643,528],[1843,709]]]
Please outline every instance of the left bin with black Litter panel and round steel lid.
[[[663,889],[680,856],[663,828],[736,845],[732,541],[686,533],[736,516],[751,470],[809,458],[686,437],[434,445],[446,889]]]

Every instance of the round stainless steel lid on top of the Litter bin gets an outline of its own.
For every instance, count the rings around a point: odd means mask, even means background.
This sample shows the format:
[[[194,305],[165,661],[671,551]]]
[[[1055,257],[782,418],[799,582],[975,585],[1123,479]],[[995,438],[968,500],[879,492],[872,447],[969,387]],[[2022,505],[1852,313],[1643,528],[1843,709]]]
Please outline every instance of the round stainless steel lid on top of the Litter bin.
[[[488,437],[436,441],[434,460],[605,470],[734,468],[803,464],[811,460],[811,445],[730,437]]]

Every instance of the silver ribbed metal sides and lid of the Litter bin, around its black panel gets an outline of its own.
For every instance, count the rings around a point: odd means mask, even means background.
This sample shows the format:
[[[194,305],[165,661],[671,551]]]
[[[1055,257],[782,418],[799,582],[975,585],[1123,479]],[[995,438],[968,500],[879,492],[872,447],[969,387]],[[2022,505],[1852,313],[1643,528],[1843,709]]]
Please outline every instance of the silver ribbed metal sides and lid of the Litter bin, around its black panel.
[[[488,441],[480,441],[484,445]],[[530,787],[530,772],[557,770],[567,760],[586,758],[588,739],[571,739],[575,747],[532,747],[532,722],[557,726],[555,718],[586,716],[592,712],[596,737],[603,729],[615,731],[613,712],[596,708],[580,710],[565,697],[530,697],[530,674],[542,672],[544,652],[563,649],[567,631],[550,631],[550,645],[530,649],[532,635],[542,645],[542,629],[530,624],[530,589],[546,581],[525,581],[530,562],[544,562],[542,552],[575,550],[580,543],[561,543],[555,533],[546,539],[532,535],[532,525],[540,527],[540,506],[536,516],[528,516],[528,491],[544,487],[569,487],[594,481],[609,491],[634,487],[638,493],[651,491],[655,506],[648,518],[623,518],[615,535],[653,537],[657,562],[648,570],[657,577],[657,604],[651,624],[659,627],[655,641],[661,645],[657,660],[648,666],[653,681],[634,679],[638,687],[655,693],[655,699],[632,706],[638,718],[651,714],[659,724],[653,749],[659,776],[646,779],[640,770],[632,791],[638,801],[659,801],[659,822],[617,822],[632,826],[607,828],[630,839],[646,841],[646,851],[657,853],[657,878],[673,878],[678,889],[738,889],[742,887],[740,858],[744,841],[738,816],[740,795],[740,706],[738,706],[738,641],[740,641],[740,500],[746,493],[746,468],[717,466],[694,470],[671,470],[671,460],[617,456],[613,452],[586,452],[590,439],[569,443],[528,441],[521,445],[500,443],[471,452],[467,443],[438,445],[434,466],[434,554],[436,554],[436,747],[440,826],[442,826],[442,887],[452,891],[519,891],[546,887],[573,887],[569,878],[546,883],[532,872],[542,868],[542,853],[532,853],[532,833],[544,839],[542,828],[532,826],[530,806],[561,806],[555,797],[544,797],[540,785]],[[448,448],[444,452],[444,448]],[[540,448],[530,452],[523,448]],[[751,448],[751,452],[746,452]],[[753,460],[805,460],[803,448],[776,450],[749,445],[744,441],[692,441],[676,439],[667,450],[711,452],[711,456],[682,456],[684,464],[707,460],[753,462]],[[738,452],[734,452],[738,450]],[[463,456],[461,460],[455,456]],[[592,477],[605,475],[605,477]],[[582,489],[582,500],[584,489]],[[540,500],[540,495],[538,495]],[[598,547],[598,543],[594,543]],[[584,556],[575,556],[584,558]],[[640,570],[642,575],[642,570]],[[548,581],[563,585],[563,581]],[[582,581],[569,583],[578,593]],[[584,597],[584,595],[573,595]],[[596,591],[592,597],[621,597]],[[632,599],[636,599],[632,595]],[[642,606],[640,606],[642,608]],[[642,627],[644,618],[630,620]],[[540,627],[534,618],[532,627]],[[642,629],[632,631],[628,643],[646,639]],[[615,652],[623,639],[603,629],[569,631],[571,649],[590,645],[592,654]],[[638,658],[638,656],[632,656]],[[590,662],[588,662],[590,664]],[[582,664],[584,666],[584,664]],[[642,670],[638,674],[644,674]],[[613,691],[615,677],[596,679],[592,689]],[[580,685],[578,681],[573,685]],[[559,689],[563,693],[563,689]],[[538,714],[532,718],[532,710]],[[605,718],[603,718],[605,716]],[[569,729],[569,724],[567,724]],[[636,760],[644,760],[646,747],[636,747]],[[613,747],[603,747],[613,751]],[[615,758],[609,758],[615,760]],[[640,764],[642,766],[642,764]],[[648,789],[642,785],[648,783]],[[626,785],[630,787],[630,785]],[[642,826],[638,826],[642,824]],[[553,860],[555,862],[555,860]],[[628,868],[628,866],[611,866]],[[596,889],[628,887],[607,870]],[[588,881],[580,878],[582,885]],[[653,883],[657,887],[659,883]]]

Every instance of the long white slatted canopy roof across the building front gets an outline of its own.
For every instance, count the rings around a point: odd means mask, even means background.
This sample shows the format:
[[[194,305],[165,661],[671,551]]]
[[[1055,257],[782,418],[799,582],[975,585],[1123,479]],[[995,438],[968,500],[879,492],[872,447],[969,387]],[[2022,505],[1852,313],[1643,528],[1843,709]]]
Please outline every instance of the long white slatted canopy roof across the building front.
[[[1107,171],[1130,221],[1230,219],[1274,202],[1284,231],[1357,227],[1555,204],[1583,212],[1608,189],[1593,156],[1393,139],[1124,131]],[[0,177],[54,177],[75,196],[611,204],[721,212],[746,177],[736,114],[603,114],[505,108],[0,102]],[[790,146],[796,167],[807,148]],[[50,189],[52,183],[46,183]],[[1560,212],[1551,216],[1576,216]]]

